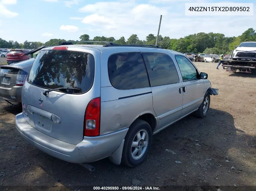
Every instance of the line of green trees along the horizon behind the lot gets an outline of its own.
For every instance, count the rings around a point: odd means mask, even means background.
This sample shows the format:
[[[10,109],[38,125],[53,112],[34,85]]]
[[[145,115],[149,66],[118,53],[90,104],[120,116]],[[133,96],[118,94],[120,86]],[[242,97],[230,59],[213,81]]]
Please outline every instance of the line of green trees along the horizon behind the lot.
[[[155,45],[156,35],[149,34],[146,37],[146,40],[140,40],[137,34],[132,34],[127,40],[125,37],[115,39],[114,37],[99,37],[96,36],[93,39],[90,39],[88,34],[83,34],[79,37],[79,40],[84,41],[110,41],[117,44],[146,44],[146,45]],[[38,46],[57,46],[65,41],[65,39],[50,39],[46,43],[41,42],[29,42],[25,41],[24,43],[19,44],[17,41],[6,41],[0,38],[0,48],[25,48],[25,49],[35,49]],[[78,40],[72,40],[78,41]],[[225,37],[221,33],[197,33],[191,34],[184,38],[174,39],[170,37],[158,37],[158,46],[161,46],[164,49],[171,49],[181,53],[211,53],[211,54],[220,54],[223,51],[228,52],[234,49],[234,46],[238,46],[241,42],[246,41],[256,41],[256,33],[253,28],[249,28],[244,31],[238,37]],[[88,43],[90,44],[90,43]]]

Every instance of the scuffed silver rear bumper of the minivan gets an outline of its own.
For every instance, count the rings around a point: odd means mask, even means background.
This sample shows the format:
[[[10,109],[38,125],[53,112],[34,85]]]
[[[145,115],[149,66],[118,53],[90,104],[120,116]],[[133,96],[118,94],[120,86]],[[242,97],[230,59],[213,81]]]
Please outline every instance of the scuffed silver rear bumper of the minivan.
[[[71,163],[94,162],[111,156],[128,131],[127,128],[107,135],[84,137],[78,145],[72,145],[36,130],[25,121],[22,113],[16,115],[15,125],[28,143],[55,158]]]

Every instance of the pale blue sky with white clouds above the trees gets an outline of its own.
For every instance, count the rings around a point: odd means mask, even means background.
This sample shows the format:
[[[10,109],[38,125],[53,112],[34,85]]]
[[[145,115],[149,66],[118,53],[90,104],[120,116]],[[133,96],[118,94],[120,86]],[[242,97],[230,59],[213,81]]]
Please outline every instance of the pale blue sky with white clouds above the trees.
[[[185,16],[185,3],[254,3],[254,16]],[[0,38],[19,43],[80,35],[125,39],[149,33],[180,38],[198,32],[238,36],[256,29],[255,0],[0,0]]]

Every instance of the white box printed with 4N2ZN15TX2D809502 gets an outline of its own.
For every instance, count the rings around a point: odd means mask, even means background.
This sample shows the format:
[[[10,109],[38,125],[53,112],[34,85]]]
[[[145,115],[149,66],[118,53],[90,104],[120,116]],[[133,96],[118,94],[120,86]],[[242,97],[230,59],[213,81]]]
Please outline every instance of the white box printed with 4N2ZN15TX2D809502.
[[[186,16],[253,16],[253,3],[185,3]]]

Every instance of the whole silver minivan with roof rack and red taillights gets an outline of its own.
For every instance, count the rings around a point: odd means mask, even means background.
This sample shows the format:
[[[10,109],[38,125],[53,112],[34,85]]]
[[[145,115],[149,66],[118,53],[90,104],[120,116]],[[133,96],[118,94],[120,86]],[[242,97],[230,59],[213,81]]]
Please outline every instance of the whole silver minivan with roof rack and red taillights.
[[[152,135],[190,113],[205,117],[210,95],[218,94],[182,53],[73,43],[39,52],[15,118],[25,140],[64,161],[109,157],[135,167],[145,161]]]

